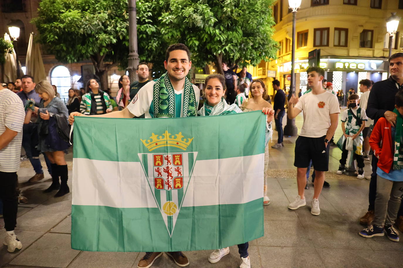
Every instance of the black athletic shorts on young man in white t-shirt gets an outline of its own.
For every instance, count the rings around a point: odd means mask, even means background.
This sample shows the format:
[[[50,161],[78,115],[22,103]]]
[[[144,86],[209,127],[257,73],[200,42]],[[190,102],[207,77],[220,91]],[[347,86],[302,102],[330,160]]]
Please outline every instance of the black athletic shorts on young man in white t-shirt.
[[[298,136],[295,141],[294,166],[297,168],[307,168],[310,161],[314,170],[329,170],[329,147],[325,147],[325,137],[311,138]]]

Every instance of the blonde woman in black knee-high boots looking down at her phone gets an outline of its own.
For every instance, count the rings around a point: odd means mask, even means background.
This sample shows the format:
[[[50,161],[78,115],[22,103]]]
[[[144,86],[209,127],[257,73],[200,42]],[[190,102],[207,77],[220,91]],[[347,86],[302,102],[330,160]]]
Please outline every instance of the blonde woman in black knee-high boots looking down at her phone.
[[[52,184],[44,192],[59,190],[55,197],[63,196],[70,192],[69,186],[67,186],[68,171],[66,160],[64,159],[64,151],[53,149],[52,144],[46,143],[46,137],[48,136],[50,117],[54,114],[59,114],[64,115],[67,120],[69,114],[66,105],[64,105],[64,102],[59,97],[55,96],[54,89],[48,81],[41,81],[36,84],[35,92],[42,98],[39,108],[35,107],[35,113],[39,115],[37,120],[39,132],[38,150],[44,152],[52,163]],[[29,122],[32,113],[32,110],[28,109],[25,122]],[[59,176],[62,182],[61,185],[59,183]]]

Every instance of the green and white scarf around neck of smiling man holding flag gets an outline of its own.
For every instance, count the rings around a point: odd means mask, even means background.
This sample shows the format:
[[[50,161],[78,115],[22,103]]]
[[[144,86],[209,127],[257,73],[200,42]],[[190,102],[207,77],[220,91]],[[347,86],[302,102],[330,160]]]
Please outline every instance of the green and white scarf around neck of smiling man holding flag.
[[[182,115],[197,116],[195,92],[187,77],[183,89]],[[175,92],[167,72],[154,84],[154,117],[175,117]]]

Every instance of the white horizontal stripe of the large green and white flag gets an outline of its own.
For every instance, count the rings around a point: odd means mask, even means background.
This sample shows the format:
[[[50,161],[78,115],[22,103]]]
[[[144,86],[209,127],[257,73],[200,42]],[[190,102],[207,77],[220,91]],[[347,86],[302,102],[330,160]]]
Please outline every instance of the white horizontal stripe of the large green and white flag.
[[[243,204],[262,198],[263,167],[264,153],[197,160],[183,207]],[[157,207],[140,162],[87,158],[73,159],[73,205]]]

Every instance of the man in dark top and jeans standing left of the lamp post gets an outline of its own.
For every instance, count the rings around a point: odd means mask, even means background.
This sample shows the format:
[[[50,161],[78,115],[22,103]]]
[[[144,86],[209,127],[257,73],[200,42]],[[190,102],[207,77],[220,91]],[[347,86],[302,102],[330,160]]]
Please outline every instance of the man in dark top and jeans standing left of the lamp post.
[[[278,133],[277,143],[272,148],[284,147],[283,145],[283,117],[285,115],[285,93],[280,88],[280,81],[275,79],[273,82],[273,89],[277,91],[274,96],[274,121],[276,122],[276,130]]]

